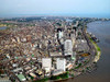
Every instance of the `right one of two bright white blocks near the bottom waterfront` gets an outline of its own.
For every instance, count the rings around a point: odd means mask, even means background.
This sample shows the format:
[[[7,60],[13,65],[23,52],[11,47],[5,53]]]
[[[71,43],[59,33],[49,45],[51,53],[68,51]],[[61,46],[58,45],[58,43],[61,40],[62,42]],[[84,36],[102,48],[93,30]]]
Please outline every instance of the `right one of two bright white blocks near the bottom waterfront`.
[[[57,58],[57,60],[56,60],[56,68],[57,68],[57,70],[65,71],[66,70],[66,59]]]

